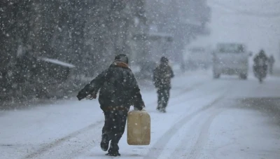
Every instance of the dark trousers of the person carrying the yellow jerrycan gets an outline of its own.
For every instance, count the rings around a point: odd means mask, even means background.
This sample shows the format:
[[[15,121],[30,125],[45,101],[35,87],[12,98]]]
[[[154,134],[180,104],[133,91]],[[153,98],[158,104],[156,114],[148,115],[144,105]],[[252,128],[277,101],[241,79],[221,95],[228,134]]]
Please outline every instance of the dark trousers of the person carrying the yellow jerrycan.
[[[104,111],[105,123],[102,134],[109,134],[111,146],[109,151],[118,151],[118,141],[125,132],[125,123],[127,121],[127,111]]]

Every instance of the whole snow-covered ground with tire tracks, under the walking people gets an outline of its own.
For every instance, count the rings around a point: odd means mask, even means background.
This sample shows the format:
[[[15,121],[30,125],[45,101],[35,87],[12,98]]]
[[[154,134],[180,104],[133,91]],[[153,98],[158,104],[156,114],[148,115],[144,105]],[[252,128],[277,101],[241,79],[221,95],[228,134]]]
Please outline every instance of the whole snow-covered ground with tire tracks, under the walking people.
[[[117,158],[280,158],[280,77],[214,80],[211,71],[174,78],[167,113],[143,90],[151,144]],[[76,99],[0,111],[0,158],[111,158],[99,148],[104,116],[96,100]]]

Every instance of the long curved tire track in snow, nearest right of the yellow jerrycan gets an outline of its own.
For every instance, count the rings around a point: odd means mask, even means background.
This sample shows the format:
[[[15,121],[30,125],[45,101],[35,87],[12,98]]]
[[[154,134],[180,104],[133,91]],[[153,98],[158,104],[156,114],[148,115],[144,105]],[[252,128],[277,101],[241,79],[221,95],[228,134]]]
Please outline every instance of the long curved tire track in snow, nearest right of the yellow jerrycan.
[[[169,142],[169,140],[172,138],[172,136],[174,136],[174,134],[176,134],[176,132],[178,132],[180,130],[182,125],[185,125],[186,123],[188,123],[192,118],[194,118],[198,114],[200,114],[204,111],[207,111],[207,109],[211,108],[211,106],[214,106],[219,101],[221,101],[221,99],[223,99],[225,95],[226,95],[226,93],[223,93],[223,95],[214,99],[214,101],[211,102],[210,104],[207,104],[206,106],[202,106],[201,109],[198,109],[197,111],[195,111],[195,112],[191,113],[190,115],[185,116],[184,118],[179,120],[178,123],[176,123],[172,127],[170,127],[170,129],[167,132],[165,132],[165,134],[163,134],[162,137],[160,137],[160,139],[158,139],[158,141],[154,144],[155,146],[153,146],[150,149],[150,151],[144,158],[147,158],[147,159],[158,158],[160,156],[160,154],[162,153],[165,145]]]

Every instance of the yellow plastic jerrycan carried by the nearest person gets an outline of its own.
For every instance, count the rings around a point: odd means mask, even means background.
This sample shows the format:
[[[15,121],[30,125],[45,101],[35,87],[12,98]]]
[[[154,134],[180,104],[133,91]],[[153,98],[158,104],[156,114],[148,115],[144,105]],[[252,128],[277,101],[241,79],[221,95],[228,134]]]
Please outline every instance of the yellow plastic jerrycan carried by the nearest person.
[[[149,145],[151,141],[151,117],[147,111],[132,110],[127,115],[127,144]]]

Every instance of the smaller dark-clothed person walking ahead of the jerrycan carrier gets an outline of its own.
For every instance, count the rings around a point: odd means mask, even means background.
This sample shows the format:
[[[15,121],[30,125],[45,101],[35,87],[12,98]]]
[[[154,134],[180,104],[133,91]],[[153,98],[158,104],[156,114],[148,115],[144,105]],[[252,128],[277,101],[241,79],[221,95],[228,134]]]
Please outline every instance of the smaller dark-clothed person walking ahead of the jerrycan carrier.
[[[166,113],[166,107],[169,100],[171,89],[171,78],[174,77],[172,68],[168,64],[167,57],[161,57],[160,64],[153,71],[153,83],[158,89],[158,107],[157,110]]]

